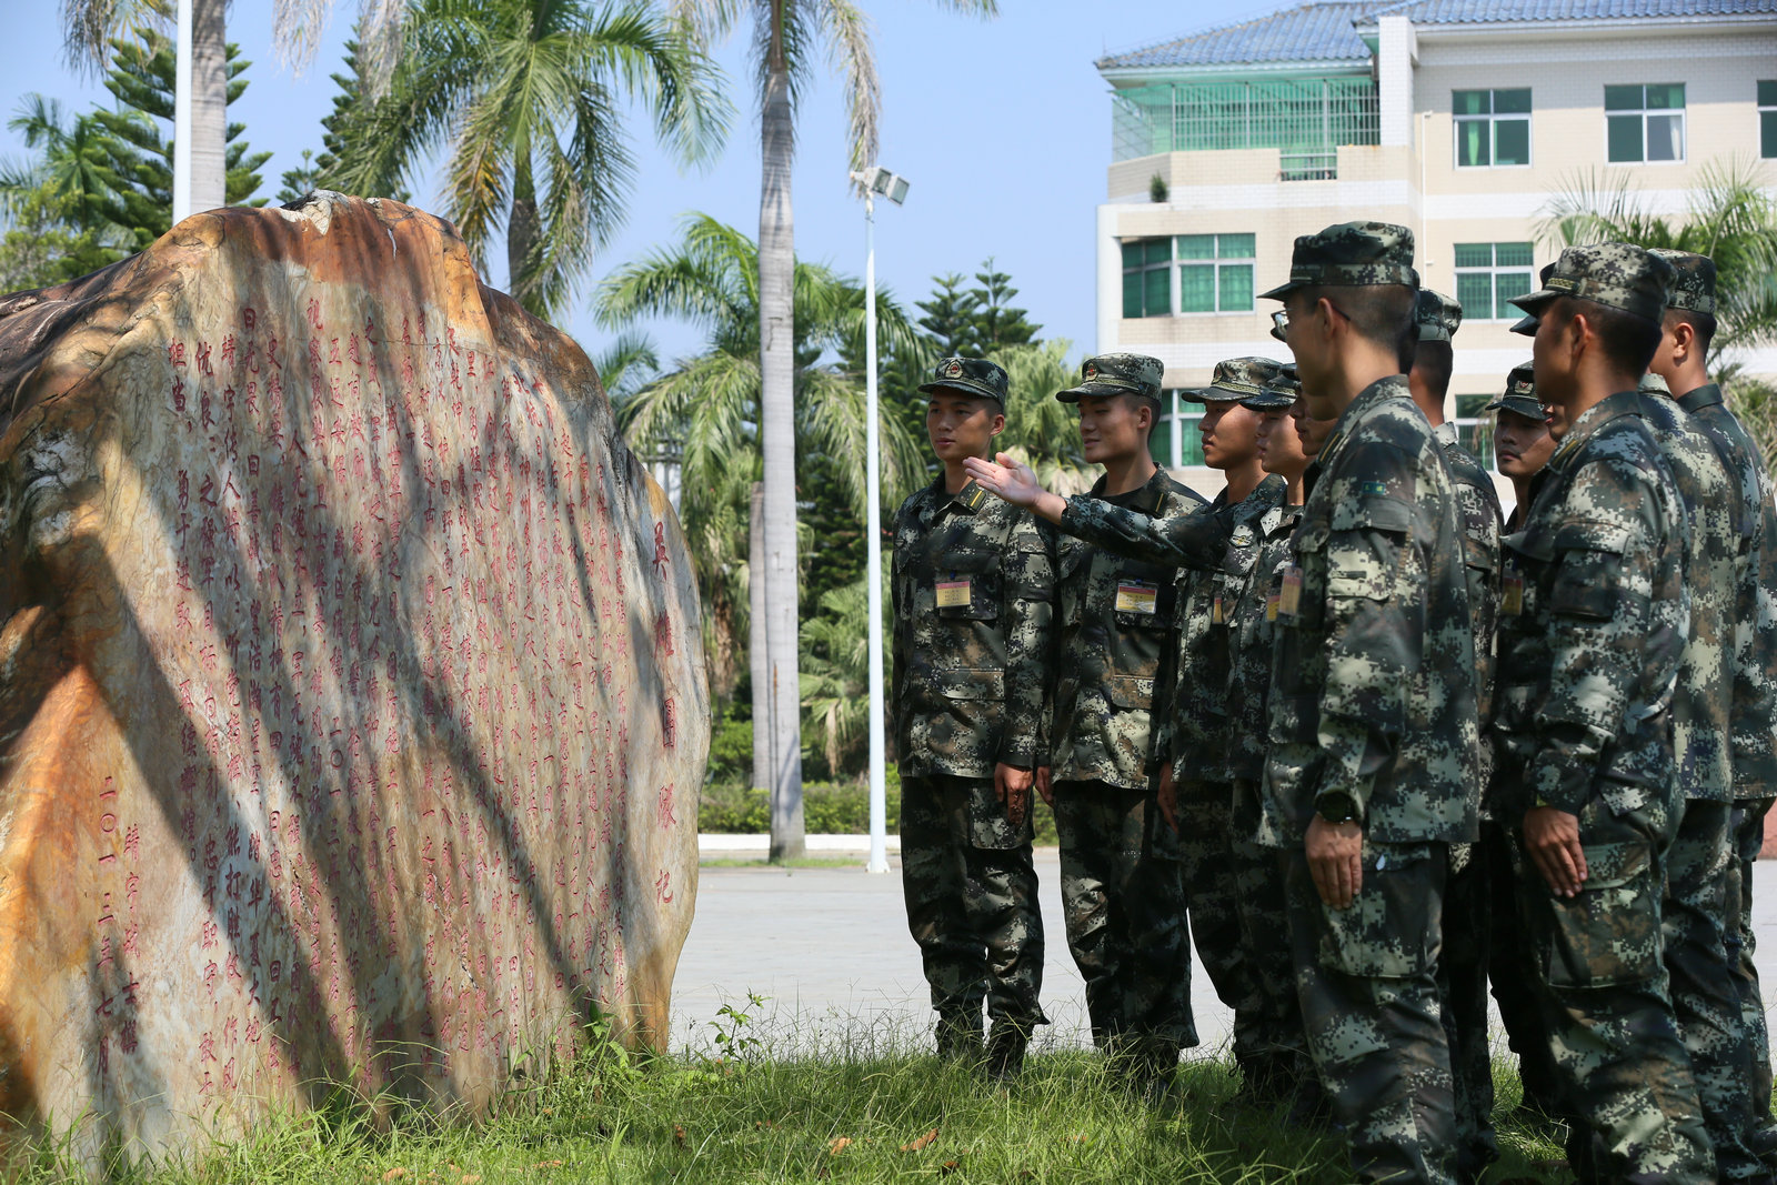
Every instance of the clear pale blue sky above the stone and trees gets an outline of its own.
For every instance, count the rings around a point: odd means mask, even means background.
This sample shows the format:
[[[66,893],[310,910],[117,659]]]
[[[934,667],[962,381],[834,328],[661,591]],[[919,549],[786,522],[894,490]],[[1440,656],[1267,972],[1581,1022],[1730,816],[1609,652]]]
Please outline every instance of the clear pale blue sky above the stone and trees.
[[[27,92],[59,98],[85,110],[110,96],[92,76],[62,60],[60,4],[16,5],[7,21],[5,115]],[[912,181],[908,204],[876,219],[878,277],[912,302],[940,272],[970,274],[986,256],[1011,274],[1018,304],[1045,336],[1070,338],[1077,352],[1093,346],[1093,208],[1104,197],[1111,160],[1111,103],[1093,69],[1105,50],[1127,50],[1169,36],[1256,16],[1279,0],[1000,0],[993,21],[961,18],[924,0],[867,0],[876,20],[876,55],[883,87],[881,163]],[[229,39],[254,66],[252,85],[229,110],[247,124],[256,149],[270,149],[261,195],[277,190],[302,149],[320,147],[320,121],[332,105],[327,75],[338,68],[355,0],[338,0],[325,39],[300,78],[277,64],[270,46],[270,0],[235,0]],[[594,261],[597,279],[650,247],[672,240],[684,211],[705,211],[755,235],[759,229],[759,121],[748,105],[752,75],[746,32],[721,50],[737,115],[721,158],[684,174],[634,119],[640,179],[629,219]],[[0,137],[5,155],[23,155],[12,131]],[[430,178],[414,201],[441,210]],[[796,252],[864,274],[864,210],[846,190],[844,108],[837,85],[823,75],[805,98],[798,123]],[[505,286],[499,263],[494,286]],[[590,284],[588,284],[590,288]],[[588,350],[608,334],[585,313],[581,297],[567,329]],[[693,330],[645,327],[665,357],[691,352]]]

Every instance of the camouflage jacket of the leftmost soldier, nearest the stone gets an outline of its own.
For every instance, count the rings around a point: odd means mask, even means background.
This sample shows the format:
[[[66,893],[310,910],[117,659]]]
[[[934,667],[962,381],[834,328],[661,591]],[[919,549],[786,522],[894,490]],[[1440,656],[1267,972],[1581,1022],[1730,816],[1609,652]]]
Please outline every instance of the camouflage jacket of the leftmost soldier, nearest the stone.
[[[903,775],[984,778],[1047,759],[1054,542],[970,481],[894,524],[894,736]]]

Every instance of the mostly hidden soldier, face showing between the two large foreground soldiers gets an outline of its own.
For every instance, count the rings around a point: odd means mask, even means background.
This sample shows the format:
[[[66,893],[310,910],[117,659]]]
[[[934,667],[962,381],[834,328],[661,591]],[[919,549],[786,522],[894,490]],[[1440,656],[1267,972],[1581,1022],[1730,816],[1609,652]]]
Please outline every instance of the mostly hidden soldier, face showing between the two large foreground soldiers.
[[[1550,437],[1548,412],[1537,400],[1535,377],[1530,362],[1514,366],[1505,377],[1505,393],[1487,403],[1494,412],[1493,451],[1500,473],[1512,480],[1516,506],[1507,519],[1507,531],[1519,531],[1530,512],[1532,480],[1555,451]],[[1502,556],[1503,565],[1503,556]],[[1486,720],[1486,718],[1484,718]],[[1482,748],[1491,757],[1491,746]],[[1491,762],[1489,762],[1491,764]],[[1491,794],[1484,799],[1491,808]],[[1550,1054],[1548,1030],[1535,991],[1535,966],[1518,920],[1518,879],[1512,871],[1512,851],[1507,824],[1494,814],[1482,823],[1480,858],[1487,860],[1487,975],[1493,981],[1493,1000],[1500,1007],[1507,1041],[1518,1054],[1518,1080],[1523,1086],[1519,1109],[1530,1119],[1560,1114],[1555,1087],[1555,1059]],[[1489,842],[1491,839],[1505,844]]]

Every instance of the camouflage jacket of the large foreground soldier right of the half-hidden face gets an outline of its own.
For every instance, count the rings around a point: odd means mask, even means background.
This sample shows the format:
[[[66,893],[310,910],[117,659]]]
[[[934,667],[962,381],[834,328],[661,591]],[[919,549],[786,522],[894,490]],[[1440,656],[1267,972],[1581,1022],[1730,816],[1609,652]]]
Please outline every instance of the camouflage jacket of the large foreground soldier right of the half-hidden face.
[[[1633,391],[1567,430],[1505,538],[1491,739],[1494,803],[1580,814],[1674,805],[1672,689],[1690,528]]]

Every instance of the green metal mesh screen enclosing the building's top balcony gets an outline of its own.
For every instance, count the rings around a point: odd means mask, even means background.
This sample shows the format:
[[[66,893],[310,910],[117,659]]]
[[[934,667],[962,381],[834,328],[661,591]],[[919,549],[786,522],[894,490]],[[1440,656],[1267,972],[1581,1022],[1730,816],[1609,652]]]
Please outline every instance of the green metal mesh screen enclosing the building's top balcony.
[[[1379,144],[1370,78],[1176,82],[1112,94],[1112,158],[1276,147],[1297,171],[1331,169],[1340,144]],[[1292,162],[1285,162],[1287,171]]]

